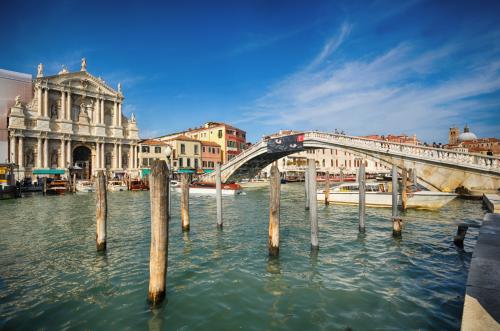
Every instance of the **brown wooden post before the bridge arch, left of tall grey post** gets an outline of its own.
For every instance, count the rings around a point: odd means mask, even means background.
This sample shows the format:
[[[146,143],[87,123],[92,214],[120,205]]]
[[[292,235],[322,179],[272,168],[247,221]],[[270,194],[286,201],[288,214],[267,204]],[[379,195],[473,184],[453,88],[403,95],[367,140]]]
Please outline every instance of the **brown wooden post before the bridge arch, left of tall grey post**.
[[[269,256],[278,256],[280,252],[280,197],[281,178],[278,166],[271,167],[269,194]]]

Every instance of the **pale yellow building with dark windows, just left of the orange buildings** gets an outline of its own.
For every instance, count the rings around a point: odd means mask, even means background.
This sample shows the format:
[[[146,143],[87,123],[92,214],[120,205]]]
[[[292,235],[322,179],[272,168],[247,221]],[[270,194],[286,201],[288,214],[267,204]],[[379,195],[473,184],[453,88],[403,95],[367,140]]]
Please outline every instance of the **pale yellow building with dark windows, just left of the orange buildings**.
[[[172,170],[177,173],[202,173],[201,169],[201,142],[199,140],[177,135],[161,140],[172,148]]]

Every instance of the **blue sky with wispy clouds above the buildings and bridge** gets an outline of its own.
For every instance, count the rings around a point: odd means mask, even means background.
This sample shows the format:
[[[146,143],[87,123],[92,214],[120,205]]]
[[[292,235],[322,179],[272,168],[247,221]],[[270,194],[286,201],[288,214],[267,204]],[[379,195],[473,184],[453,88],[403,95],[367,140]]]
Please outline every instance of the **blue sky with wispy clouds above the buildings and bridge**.
[[[116,87],[143,138],[231,123],[500,137],[500,1],[2,1],[0,68]]]

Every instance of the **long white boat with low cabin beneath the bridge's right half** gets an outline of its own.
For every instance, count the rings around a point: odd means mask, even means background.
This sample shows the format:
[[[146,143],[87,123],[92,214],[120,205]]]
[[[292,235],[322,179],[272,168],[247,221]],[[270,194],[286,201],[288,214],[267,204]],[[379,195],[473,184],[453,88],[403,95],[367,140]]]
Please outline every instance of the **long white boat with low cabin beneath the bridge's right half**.
[[[324,190],[317,191],[317,199],[325,200]],[[439,209],[458,195],[455,193],[415,191],[407,193],[407,208]],[[329,193],[329,201],[334,204],[359,204],[358,183],[341,184],[333,187]],[[392,192],[384,183],[366,183],[366,205],[369,207],[391,207]],[[398,205],[401,205],[401,194],[398,194]]]

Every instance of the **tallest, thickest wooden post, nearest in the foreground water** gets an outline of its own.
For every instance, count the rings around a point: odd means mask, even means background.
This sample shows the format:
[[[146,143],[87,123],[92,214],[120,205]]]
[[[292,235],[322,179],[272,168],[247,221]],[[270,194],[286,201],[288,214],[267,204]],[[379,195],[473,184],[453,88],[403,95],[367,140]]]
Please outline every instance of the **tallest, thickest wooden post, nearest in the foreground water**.
[[[151,248],[149,251],[148,300],[156,305],[165,297],[168,261],[168,169],[165,161],[151,167]]]

